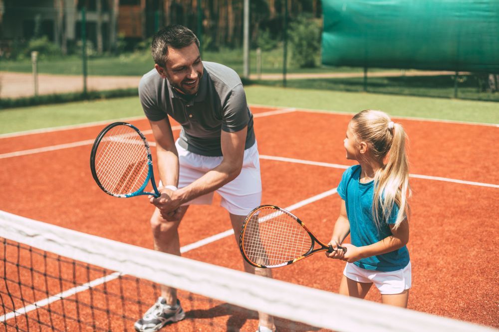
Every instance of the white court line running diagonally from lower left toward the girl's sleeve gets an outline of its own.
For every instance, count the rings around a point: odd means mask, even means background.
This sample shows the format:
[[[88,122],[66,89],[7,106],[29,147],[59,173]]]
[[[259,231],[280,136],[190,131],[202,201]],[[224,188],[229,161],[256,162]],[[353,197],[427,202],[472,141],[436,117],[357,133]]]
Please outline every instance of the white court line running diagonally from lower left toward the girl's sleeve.
[[[331,196],[333,194],[336,193],[336,188],[334,189],[331,189],[331,190],[328,190],[326,192],[323,192],[319,195],[315,195],[315,196],[312,196],[306,200],[303,200],[301,202],[298,202],[298,203],[295,203],[293,205],[290,205],[289,207],[285,208],[286,210],[288,211],[293,211],[295,209],[298,209],[302,206],[305,206],[309,203],[312,203],[312,202],[315,202],[315,201],[318,201],[320,199],[323,199],[324,197],[328,197],[328,196]],[[188,252],[188,251],[191,251],[193,249],[196,249],[196,248],[199,248],[203,245],[207,245],[209,243],[212,243],[212,242],[215,242],[219,239],[222,239],[224,237],[227,237],[227,236],[230,236],[234,234],[234,229],[228,229],[226,231],[223,231],[221,233],[218,233],[216,235],[213,235],[213,236],[210,236],[210,237],[207,237],[205,239],[202,239],[200,241],[197,241],[197,242],[194,242],[194,243],[191,243],[191,244],[187,244],[187,245],[184,245],[183,247],[180,248],[180,252],[181,253],[185,253],[185,252]],[[30,304],[30,305],[27,305],[23,308],[20,308],[20,309],[17,309],[15,312],[9,312],[3,316],[0,316],[0,322],[5,322],[6,320],[9,320],[11,318],[14,318],[14,317],[17,317],[17,316],[20,316],[20,315],[24,315],[30,311],[33,311],[33,310],[36,310],[40,307],[43,307],[43,306],[46,306],[52,302],[55,302],[55,301],[59,301],[59,300],[62,300],[63,298],[65,297],[68,297],[68,296],[72,296],[76,293],[79,293],[79,292],[83,292],[83,291],[86,291],[88,290],[89,288],[91,287],[96,287],[96,286],[99,286],[107,281],[111,281],[111,280],[114,280],[116,278],[118,278],[119,276],[121,275],[120,272],[114,272],[112,274],[109,274],[107,276],[104,276],[102,278],[98,278],[98,279],[95,279],[95,280],[92,280],[91,282],[88,282],[88,283],[85,283],[81,286],[78,286],[78,287],[74,287],[74,288],[71,288],[69,290],[66,290],[64,292],[61,292],[59,294],[56,294],[56,295],[53,295],[49,298],[46,298],[46,299],[43,299],[43,300],[40,300],[40,301],[37,301],[33,304]]]

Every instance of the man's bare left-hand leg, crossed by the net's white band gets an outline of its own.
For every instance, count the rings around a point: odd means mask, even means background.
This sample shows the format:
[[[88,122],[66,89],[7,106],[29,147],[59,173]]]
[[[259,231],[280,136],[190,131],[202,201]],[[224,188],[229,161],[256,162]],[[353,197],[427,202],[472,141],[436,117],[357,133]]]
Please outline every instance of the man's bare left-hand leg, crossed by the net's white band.
[[[179,221],[167,221],[161,217],[158,208],[154,210],[151,217],[151,228],[154,236],[154,249],[169,254],[180,256],[179,224],[189,206],[180,207]],[[168,286],[161,286],[161,296],[166,304],[174,306],[177,304],[177,290]]]

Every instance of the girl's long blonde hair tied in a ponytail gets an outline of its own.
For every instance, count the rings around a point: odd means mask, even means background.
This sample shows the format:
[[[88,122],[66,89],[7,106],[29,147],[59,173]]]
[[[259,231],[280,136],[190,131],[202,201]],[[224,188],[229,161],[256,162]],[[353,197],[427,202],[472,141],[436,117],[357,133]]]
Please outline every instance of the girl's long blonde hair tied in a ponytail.
[[[393,205],[397,204],[397,228],[410,213],[407,200],[411,195],[411,188],[404,128],[401,124],[392,122],[390,116],[382,111],[361,111],[353,116],[351,122],[355,139],[366,142],[369,157],[383,165],[374,176],[373,219],[379,227],[381,218],[388,220]]]

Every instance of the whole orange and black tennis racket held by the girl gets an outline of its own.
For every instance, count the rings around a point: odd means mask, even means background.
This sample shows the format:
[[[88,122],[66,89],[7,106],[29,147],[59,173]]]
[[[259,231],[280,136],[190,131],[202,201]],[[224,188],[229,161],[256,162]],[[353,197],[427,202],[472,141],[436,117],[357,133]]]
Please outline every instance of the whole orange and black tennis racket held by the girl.
[[[333,251],[298,217],[273,205],[250,212],[243,223],[239,247],[248,263],[261,268],[289,265],[318,251]],[[346,252],[346,248],[338,248]]]

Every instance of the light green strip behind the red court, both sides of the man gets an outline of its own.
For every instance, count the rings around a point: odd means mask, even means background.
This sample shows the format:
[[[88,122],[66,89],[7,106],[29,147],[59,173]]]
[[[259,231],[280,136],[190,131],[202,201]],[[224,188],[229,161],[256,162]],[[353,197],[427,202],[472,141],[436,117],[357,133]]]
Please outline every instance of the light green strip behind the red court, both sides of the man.
[[[355,113],[364,109],[393,116],[499,123],[499,104],[455,99],[337,92],[252,85],[250,104]],[[0,133],[142,116],[138,97],[4,109]]]

